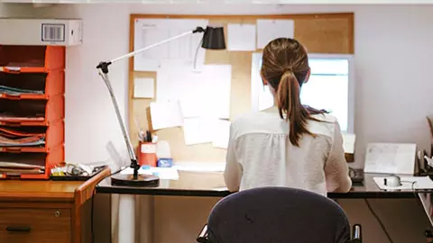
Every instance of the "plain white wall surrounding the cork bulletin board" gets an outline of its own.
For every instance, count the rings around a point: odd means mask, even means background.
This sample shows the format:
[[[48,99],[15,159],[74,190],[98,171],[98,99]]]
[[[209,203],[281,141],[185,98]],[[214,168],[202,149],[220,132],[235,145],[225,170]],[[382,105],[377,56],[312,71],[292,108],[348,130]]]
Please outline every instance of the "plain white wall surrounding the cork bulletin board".
[[[433,43],[430,27],[433,5],[253,5],[247,8],[236,4],[212,7],[82,4],[33,9],[32,6],[0,4],[0,16],[78,17],[84,20],[85,43],[67,53],[66,86],[66,159],[80,163],[106,160],[109,141],[126,157],[114,110],[95,66],[100,60],[115,58],[128,51],[129,14],[324,12],[355,12],[355,132],[358,138],[355,166],[363,166],[366,142],[416,142],[420,148],[429,148],[425,116],[433,113],[433,82],[428,59],[433,54],[430,48]],[[116,63],[111,73],[125,116],[127,63]],[[354,221],[362,220],[366,213],[357,210],[358,204],[344,203]],[[395,211],[382,213],[393,222],[392,234],[401,238],[394,242],[408,242],[403,241],[404,238],[421,242],[423,229],[420,225],[425,225],[426,221],[419,208],[415,211],[413,203],[398,201],[390,202],[390,205],[397,211],[414,211],[405,213],[410,225],[399,225],[396,217],[400,214]],[[181,227],[182,217],[170,217],[172,219],[166,220]],[[375,225],[371,218],[366,223]],[[370,240],[365,242],[385,242],[380,240],[383,239],[382,231],[375,226],[366,233]],[[193,237],[193,233],[189,237]]]

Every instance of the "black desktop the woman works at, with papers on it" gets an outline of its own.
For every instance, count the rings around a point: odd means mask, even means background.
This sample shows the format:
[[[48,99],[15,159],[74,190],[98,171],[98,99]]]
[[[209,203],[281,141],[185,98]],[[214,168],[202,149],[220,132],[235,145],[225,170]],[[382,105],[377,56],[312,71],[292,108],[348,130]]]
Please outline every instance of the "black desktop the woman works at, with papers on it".
[[[215,196],[229,194],[220,172],[179,171],[179,180],[160,180],[155,187],[116,186],[106,177],[97,185],[97,193],[148,194],[177,196]],[[365,174],[364,184],[354,184],[349,193],[328,193],[330,198],[416,198],[418,193],[429,193],[426,190],[381,190],[373,181],[373,174]]]

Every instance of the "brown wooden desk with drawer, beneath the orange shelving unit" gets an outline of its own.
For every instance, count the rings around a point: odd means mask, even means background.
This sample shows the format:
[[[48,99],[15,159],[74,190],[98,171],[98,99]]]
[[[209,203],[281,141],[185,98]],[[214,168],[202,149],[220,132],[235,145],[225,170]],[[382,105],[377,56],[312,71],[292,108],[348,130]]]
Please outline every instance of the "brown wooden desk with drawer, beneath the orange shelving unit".
[[[0,180],[0,242],[89,242],[83,205],[107,175],[108,167],[88,181]]]

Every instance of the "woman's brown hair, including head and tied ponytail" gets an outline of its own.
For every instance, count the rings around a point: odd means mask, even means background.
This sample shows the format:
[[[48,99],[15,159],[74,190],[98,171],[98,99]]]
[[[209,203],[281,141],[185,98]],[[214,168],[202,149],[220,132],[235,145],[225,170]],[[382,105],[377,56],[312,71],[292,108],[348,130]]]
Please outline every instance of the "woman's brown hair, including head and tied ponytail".
[[[290,123],[291,144],[299,146],[302,134],[316,136],[307,121],[318,121],[312,114],[324,113],[300,103],[300,86],[309,75],[309,58],[298,40],[278,38],[263,49],[262,77],[275,90],[280,117]],[[285,117],[284,117],[285,115]]]

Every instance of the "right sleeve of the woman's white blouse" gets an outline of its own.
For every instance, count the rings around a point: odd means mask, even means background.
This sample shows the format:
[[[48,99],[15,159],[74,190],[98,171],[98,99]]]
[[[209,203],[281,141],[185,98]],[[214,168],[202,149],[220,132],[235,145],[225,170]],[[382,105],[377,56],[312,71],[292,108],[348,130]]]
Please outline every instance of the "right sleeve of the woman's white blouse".
[[[343,136],[337,121],[335,122],[331,150],[325,164],[325,175],[328,192],[347,193],[350,191],[352,180],[350,179],[347,162],[345,161]]]

